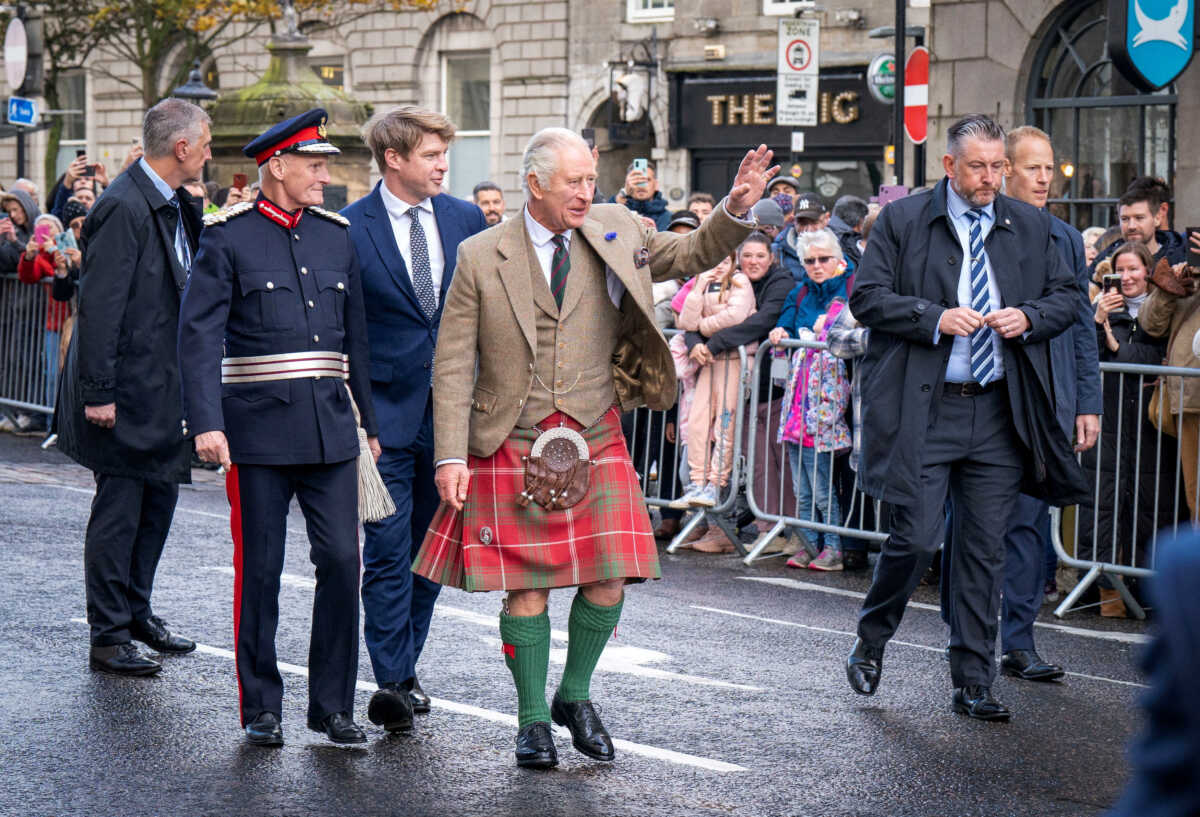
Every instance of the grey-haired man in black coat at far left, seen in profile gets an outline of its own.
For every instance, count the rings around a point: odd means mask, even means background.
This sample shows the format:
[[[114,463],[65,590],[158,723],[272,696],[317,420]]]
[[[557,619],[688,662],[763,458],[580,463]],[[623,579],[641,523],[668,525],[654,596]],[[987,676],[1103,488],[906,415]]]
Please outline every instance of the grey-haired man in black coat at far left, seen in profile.
[[[210,158],[209,116],[164,100],[143,122],[145,157],[118,176],[84,222],[79,317],[64,365],[59,449],[96,476],[84,539],[92,669],[150,675],[132,643],[188,653],[150,608],[154,575],[191,482],[175,336],[200,234],[182,188]]]

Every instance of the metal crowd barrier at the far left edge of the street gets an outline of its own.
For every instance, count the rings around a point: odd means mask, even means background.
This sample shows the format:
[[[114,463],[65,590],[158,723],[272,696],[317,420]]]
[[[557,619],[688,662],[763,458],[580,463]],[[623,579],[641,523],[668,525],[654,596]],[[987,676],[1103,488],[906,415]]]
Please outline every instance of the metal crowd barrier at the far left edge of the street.
[[[26,413],[53,414],[54,385],[46,347],[46,307],[49,287],[28,284],[16,275],[0,275],[0,406]],[[58,348],[50,377],[58,374]]]

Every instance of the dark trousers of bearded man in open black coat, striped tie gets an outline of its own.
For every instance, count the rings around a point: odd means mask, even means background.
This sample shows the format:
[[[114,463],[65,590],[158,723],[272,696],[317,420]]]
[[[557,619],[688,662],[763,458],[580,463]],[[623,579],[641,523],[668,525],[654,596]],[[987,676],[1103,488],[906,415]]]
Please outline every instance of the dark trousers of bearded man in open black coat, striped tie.
[[[893,505],[890,534],[880,549],[863,601],[858,636],[884,644],[942,542],[946,499],[954,504],[958,542],[949,559],[950,678],[955,687],[990,686],[996,674],[996,605],[1004,567],[1004,531],[1020,489],[1022,461],[1003,386],[978,397],[944,395],[929,428],[920,469],[923,495]]]

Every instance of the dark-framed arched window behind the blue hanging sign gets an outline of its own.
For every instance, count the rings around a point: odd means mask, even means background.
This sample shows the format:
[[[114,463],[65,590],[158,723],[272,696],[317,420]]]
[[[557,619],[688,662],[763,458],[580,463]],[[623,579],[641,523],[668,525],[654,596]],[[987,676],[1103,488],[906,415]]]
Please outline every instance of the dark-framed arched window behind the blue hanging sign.
[[[1050,134],[1060,174],[1050,209],[1079,229],[1115,223],[1134,176],[1174,185],[1175,89],[1133,88],[1112,66],[1104,0],[1068,0],[1033,56],[1026,121]]]

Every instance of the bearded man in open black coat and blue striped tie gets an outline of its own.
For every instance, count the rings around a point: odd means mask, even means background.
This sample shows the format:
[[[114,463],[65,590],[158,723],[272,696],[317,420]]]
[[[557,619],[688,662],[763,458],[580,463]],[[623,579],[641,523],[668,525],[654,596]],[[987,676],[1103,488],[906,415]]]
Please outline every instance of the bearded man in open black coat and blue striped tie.
[[[942,539],[954,504],[954,710],[1008,720],[991,695],[1004,525],[1018,493],[1085,491],[1055,427],[1048,341],[1079,294],[1050,216],[1000,194],[1004,131],[982,115],[948,131],[947,179],[889,204],[871,232],[851,310],[871,329],[863,361],[863,488],[890,503],[888,541],[846,662],[871,695],[883,647]]]

